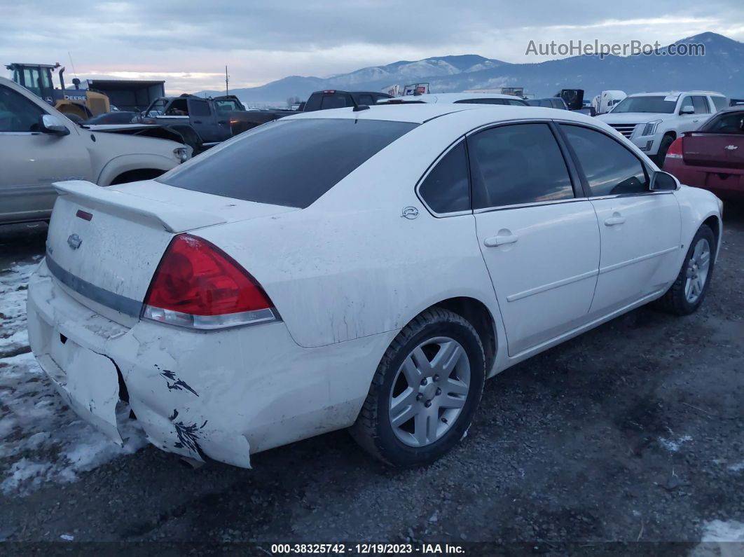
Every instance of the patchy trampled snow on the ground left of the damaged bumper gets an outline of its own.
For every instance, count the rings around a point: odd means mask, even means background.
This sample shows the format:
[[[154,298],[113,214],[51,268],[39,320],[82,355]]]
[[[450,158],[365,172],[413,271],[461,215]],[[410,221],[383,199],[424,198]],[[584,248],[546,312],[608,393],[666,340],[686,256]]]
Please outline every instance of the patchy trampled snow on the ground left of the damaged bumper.
[[[146,444],[124,405],[118,408],[123,448],[78,419],[36,364],[26,332],[26,285],[39,259],[0,271],[0,491],[6,494],[77,480]]]

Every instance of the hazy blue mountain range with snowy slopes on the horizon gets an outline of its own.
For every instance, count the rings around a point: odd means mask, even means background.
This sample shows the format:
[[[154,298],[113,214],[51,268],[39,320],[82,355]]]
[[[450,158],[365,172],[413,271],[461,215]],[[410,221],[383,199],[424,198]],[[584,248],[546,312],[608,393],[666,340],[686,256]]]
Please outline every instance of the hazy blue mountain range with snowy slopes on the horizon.
[[[585,98],[604,89],[626,93],[705,89],[744,98],[744,43],[718,33],[700,33],[675,42],[701,43],[705,56],[638,54],[629,57],[583,55],[531,64],[512,64],[477,54],[400,60],[327,78],[289,76],[266,85],[231,90],[250,106],[285,104],[289,97],[306,99],[312,91],[339,88],[381,91],[394,84],[429,83],[432,93],[466,89],[525,87],[536,97],[553,96],[561,88],[583,88]],[[667,47],[668,48],[668,47]],[[661,52],[667,51],[662,48]],[[224,91],[199,91],[202,95]]]

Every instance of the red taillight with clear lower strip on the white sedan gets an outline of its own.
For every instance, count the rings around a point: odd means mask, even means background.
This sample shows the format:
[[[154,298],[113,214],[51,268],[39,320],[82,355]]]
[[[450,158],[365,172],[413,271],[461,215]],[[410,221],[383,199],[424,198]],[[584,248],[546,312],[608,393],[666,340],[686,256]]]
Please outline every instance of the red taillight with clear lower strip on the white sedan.
[[[205,239],[179,234],[160,260],[142,317],[193,329],[275,321],[274,304],[256,280]]]

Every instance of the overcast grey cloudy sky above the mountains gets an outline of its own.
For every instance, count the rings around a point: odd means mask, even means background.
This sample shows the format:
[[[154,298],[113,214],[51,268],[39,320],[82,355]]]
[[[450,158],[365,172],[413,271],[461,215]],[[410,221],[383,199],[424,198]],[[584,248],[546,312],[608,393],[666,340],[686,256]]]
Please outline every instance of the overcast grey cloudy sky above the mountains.
[[[446,54],[539,62],[530,39],[744,41],[744,0],[0,0],[0,13],[0,62],[60,62],[70,79],[71,56],[81,79],[162,79],[169,92],[223,88],[225,64],[238,88]]]

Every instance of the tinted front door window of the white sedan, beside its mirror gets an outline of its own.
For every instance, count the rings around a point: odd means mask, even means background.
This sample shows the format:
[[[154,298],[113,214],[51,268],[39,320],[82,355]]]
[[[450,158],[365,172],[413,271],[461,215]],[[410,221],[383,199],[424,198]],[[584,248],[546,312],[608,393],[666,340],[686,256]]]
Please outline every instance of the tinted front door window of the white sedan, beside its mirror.
[[[560,125],[589,183],[591,197],[645,193],[649,179],[641,161],[617,141],[582,126]]]

